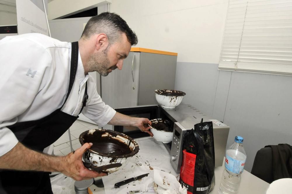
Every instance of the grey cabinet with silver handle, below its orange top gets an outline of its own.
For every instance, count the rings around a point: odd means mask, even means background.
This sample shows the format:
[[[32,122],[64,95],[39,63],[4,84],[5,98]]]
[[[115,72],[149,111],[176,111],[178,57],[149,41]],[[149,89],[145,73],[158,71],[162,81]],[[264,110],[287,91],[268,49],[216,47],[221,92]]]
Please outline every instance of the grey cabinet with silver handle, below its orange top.
[[[174,89],[177,56],[172,54],[131,51],[122,70],[101,77],[102,100],[112,108],[157,104],[155,89]]]

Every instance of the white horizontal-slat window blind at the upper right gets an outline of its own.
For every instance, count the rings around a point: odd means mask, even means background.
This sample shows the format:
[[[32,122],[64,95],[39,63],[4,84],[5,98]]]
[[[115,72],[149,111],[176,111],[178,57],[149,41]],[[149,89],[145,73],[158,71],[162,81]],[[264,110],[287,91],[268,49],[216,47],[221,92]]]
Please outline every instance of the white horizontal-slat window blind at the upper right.
[[[229,0],[218,69],[292,75],[292,1]]]

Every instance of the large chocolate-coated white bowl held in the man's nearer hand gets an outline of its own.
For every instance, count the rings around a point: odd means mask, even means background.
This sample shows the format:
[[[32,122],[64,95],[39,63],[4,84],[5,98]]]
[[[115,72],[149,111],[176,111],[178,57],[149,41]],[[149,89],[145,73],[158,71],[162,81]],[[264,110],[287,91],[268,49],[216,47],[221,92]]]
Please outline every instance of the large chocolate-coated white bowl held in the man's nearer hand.
[[[84,162],[96,167],[113,163],[122,164],[120,167],[110,168],[105,172],[115,172],[123,168],[127,158],[139,151],[138,143],[131,137],[112,130],[90,129],[80,134],[79,141],[81,145],[93,143],[83,155]]]

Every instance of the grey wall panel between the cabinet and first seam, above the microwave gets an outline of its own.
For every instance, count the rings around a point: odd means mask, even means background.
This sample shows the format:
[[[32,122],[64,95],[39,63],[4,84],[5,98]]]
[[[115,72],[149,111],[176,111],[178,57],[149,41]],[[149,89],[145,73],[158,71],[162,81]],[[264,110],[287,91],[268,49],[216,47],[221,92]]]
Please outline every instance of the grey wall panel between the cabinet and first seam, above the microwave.
[[[182,103],[211,116],[218,75],[218,64],[178,62],[175,89],[186,93]]]

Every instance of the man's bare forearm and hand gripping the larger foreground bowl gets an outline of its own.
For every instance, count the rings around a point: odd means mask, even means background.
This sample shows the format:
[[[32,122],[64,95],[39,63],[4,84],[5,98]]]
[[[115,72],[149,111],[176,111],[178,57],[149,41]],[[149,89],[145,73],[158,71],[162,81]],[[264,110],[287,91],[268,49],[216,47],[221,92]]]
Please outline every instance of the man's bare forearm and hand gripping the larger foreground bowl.
[[[92,143],[85,143],[67,156],[53,156],[36,152],[18,142],[12,150],[0,156],[0,169],[62,172],[77,181],[107,175],[84,167],[82,155],[91,146]]]

